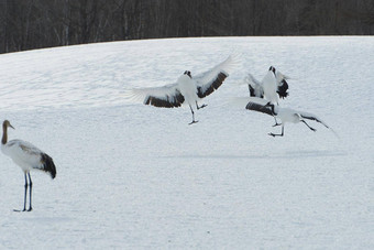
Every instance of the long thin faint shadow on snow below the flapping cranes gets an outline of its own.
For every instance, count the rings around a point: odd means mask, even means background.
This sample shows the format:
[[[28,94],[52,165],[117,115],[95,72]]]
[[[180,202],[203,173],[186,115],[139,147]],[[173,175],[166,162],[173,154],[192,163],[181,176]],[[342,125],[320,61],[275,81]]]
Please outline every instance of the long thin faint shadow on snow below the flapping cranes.
[[[298,157],[328,157],[346,155],[340,151],[322,151],[322,150],[298,150],[287,151],[274,154],[182,154],[182,155],[164,155],[157,156],[163,159],[298,159]]]

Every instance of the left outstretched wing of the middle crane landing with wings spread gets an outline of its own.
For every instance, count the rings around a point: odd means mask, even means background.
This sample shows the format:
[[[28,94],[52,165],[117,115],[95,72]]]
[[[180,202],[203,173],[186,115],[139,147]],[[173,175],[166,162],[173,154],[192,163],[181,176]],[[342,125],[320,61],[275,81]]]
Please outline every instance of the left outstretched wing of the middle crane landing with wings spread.
[[[132,101],[142,101],[144,105],[152,105],[161,108],[180,107],[185,97],[177,88],[177,84],[162,87],[133,88],[127,90],[124,96]]]

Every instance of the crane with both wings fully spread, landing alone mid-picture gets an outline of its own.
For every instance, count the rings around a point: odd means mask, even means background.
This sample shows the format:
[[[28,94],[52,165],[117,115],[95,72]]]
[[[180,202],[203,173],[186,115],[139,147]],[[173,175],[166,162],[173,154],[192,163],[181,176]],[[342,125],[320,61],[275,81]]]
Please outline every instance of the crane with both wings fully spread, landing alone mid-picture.
[[[196,105],[196,109],[205,108],[207,105],[199,106],[198,100],[218,89],[238,64],[238,56],[231,55],[210,70],[199,75],[193,76],[191,72],[185,70],[175,84],[162,87],[134,88],[127,91],[125,96],[135,101],[143,101],[144,105],[160,108],[177,108],[186,104],[193,113],[193,121],[189,123],[193,124],[198,122],[195,120],[193,106]]]

